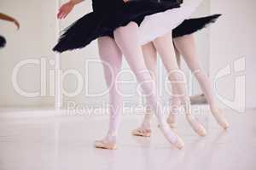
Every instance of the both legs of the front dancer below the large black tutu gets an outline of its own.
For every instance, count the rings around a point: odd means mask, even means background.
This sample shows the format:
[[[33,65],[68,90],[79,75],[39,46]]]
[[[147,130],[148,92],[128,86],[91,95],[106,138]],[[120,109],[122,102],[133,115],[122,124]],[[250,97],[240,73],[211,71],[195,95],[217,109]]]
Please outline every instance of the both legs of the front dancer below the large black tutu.
[[[96,147],[104,149],[116,148],[116,137],[119,129],[119,119],[122,110],[122,96],[117,91],[115,80],[121,69],[122,54],[131,67],[131,71],[137,77],[137,82],[143,89],[143,94],[147,95],[148,105],[154,110],[154,114],[160,124],[160,130],[166,139],[178,149],[183,148],[183,141],[172,132],[172,129],[166,123],[163,106],[144,59],[143,50],[138,41],[138,26],[131,22],[127,26],[119,27],[114,32],[114,40],[110,37],[101,37],[98,39],[101,59],[104,63],[104,72],[108,83],[110,93],[110,121],[107,136],[96,141]],[[174,49],[173,49],[174,51]]]

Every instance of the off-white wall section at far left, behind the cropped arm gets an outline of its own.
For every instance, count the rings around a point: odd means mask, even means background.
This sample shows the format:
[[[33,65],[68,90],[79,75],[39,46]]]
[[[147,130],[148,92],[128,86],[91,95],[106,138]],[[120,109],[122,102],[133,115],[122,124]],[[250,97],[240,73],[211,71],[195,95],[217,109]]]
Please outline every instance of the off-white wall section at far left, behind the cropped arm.
[[[0,22],[1,34],[8,41],[6,48],[0,50],[0,107],[54,106],[54,97],[49,95],[49,81],[41,84],[40,59],[55,59],[55,54],[50,50],[55,44],[55,9],[54,1],[0,1],[0,11],[20,21],[19,31],[8,22]],[[21,67],[17,82],[22,90],[38,92],[38,97],[22,97],[12,85],[15,65],[26,59],[35,59],[38,64]],[[49,79],[48,71],[51,69],[54,69],[54,66],[47,63],[46,80]],[[45,92],[40,92],[40,88],[44,87]]]

